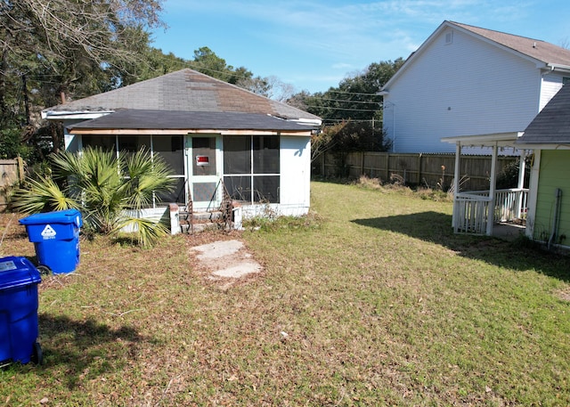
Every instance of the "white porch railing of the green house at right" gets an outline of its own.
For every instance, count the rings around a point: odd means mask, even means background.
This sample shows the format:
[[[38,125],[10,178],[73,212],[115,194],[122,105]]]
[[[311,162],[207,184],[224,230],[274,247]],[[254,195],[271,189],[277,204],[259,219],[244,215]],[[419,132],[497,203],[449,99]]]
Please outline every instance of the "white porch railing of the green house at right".
[[[489,208],[494,200],[493,223],[513,222],[525,218],[527,189],[469,191],[457,194],[453,208],[453,231],[456,233],[486,234]]]

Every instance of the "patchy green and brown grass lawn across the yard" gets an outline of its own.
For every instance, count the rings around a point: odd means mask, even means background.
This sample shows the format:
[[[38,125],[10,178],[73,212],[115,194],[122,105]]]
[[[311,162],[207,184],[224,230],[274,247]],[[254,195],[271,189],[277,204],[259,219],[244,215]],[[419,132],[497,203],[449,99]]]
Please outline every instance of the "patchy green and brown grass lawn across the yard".
[[[0,403],[570,404],[568,257],[455,236],[450,202],[312,188],[318,216],[257,231],[82,240],[39,286],[45,364],[0,371]],[[11,218],[0,254],[33,257]],[[216,239],[264,273],[208,280],[189,248]]]

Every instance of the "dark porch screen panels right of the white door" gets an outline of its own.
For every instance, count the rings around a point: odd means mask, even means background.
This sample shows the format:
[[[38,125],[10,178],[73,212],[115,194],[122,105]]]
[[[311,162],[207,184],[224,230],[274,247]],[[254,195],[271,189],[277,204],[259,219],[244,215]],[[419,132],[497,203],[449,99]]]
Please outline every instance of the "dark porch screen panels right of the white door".
[[[224,184],[232,199],[279,203],[280,138],[224,136]]]

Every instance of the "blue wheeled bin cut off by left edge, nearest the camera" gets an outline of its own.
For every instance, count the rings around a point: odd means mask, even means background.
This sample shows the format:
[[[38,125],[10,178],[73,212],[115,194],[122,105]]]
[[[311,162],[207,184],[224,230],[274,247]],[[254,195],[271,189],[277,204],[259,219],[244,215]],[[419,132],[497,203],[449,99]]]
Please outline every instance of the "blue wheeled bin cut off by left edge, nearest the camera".
[[[26,257],[0,258],[0,364],[42,362],[37,343],[37,268]]]

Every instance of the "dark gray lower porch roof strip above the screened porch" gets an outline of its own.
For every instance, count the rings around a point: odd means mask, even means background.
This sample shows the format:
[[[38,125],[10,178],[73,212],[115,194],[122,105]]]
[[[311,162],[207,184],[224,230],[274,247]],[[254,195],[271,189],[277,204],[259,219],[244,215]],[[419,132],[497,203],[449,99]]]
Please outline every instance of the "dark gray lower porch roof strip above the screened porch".
[[[274,118],[259,113],[211,112],[211,111],[165,111],[165,110],[118,110],[101,118],[85,120],[73,129],[165,129],[165,130],[268,130],[304,131],[311,126]]]

